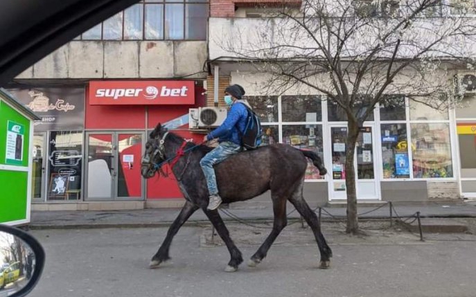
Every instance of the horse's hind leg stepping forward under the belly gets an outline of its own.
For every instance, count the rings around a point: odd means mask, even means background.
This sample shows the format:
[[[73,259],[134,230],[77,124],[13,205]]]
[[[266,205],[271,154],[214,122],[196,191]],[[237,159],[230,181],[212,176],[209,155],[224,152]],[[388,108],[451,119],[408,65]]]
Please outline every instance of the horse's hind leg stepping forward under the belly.
[[[273,229],[270,235],[267,236],[265,242],[261,244],[258,251],[252,255],[252,258],[248,261],[249,267],[256,267],[257,264],[266,257],[267,251],[270,249],[276,237],[283,230],[283,228],[288,224],[288,218],[286,217],[286,199],[284,196],[274,195],[272,193],[273,201],[273,212],[274,212],[274,223]]]

